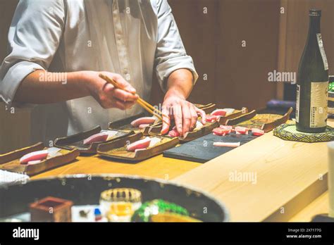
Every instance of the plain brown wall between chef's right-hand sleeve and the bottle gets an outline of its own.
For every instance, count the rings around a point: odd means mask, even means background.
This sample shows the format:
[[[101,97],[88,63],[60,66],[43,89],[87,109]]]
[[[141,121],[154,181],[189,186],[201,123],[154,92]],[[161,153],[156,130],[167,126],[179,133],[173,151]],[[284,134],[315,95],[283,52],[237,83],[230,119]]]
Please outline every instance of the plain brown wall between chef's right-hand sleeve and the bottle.
[[[268,82],[268,72],[277,68],[280,1],[168,2],[199,73],[190,101],[264,108],[276,96],[276,84]],[[160,102],[159,87],[153,92],[152,101]]]

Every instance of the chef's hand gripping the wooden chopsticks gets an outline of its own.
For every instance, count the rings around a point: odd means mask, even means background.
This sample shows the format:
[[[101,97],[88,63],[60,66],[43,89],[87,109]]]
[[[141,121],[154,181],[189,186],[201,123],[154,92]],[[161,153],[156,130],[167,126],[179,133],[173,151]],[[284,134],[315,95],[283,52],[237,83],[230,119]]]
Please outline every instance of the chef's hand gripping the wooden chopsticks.
[[[125,110],[132,107],[138,99],[136,90],[125,79],[116,73],[101,72],[118,82],[126,91],[116,89],[112,84],[99,77],[99,72],[82,71],[82,80],[90,95],[103,108],[118,108]]]

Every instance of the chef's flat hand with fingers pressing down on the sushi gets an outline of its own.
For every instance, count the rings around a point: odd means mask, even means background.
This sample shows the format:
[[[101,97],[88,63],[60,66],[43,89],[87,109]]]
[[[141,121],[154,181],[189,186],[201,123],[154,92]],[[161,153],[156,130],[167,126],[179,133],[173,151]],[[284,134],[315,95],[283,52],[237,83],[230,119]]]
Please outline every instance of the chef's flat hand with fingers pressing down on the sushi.
[[[176,130],[181,136],[194,130],[198,115],[202,117],[202,123],[205,124],[205,112],[187,101],[183,96],[168,94],[162,105],[163,120],[171,125],[171,118],[175,120]],[[163,122],[161,134],[166,134],[169,125]]]

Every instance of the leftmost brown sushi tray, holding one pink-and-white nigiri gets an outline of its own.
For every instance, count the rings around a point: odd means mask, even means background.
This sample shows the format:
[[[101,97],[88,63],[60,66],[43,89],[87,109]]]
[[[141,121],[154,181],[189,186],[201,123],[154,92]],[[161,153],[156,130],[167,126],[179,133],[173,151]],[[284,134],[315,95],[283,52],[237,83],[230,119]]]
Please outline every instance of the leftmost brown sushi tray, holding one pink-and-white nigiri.
[[[0,155],[0,169],[32,176],[66,165],[79,156],[77,149],[46,148],[42,143]]]

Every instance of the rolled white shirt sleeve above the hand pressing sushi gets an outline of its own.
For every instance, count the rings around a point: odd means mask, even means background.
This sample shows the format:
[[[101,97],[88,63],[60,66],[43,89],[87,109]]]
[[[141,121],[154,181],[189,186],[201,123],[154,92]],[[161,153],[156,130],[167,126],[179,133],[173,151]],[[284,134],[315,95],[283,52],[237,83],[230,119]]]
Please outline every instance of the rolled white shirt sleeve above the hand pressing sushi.
[[[167,0],[156,1],[158,15],[158,42],[156,46],[156,74],[163,91],[166,91],[166,78],[173,71],[185,68],[192,72],[193,82],[198,75],[194,68],[192,57],[187,56],[178,26],[175,23],[171,7]]]

